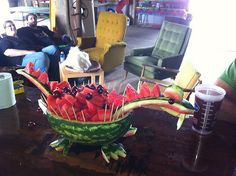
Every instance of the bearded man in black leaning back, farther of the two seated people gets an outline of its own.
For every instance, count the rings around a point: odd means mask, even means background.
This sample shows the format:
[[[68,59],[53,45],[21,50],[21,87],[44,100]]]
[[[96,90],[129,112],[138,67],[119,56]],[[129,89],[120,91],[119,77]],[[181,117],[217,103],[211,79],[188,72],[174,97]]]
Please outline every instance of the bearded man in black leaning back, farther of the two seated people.
[[[29,13],[26,16],[26,20],[28,26],[17,30],[19,37],[31,44],[41,47],[49,45],[64,45],[60,50],[66,55],[68,54],[70,47],[73,45],[73,41],[70,37],[66,35],[60,36],[56,32],[50,31],[47,26],[38,26],[37,16],[33,13]]]

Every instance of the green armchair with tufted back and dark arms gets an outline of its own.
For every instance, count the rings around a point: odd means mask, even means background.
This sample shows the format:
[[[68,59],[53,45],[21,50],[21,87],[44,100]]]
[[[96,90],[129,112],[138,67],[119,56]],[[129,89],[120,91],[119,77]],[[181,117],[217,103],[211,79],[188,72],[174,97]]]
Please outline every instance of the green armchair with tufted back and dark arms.
[[[143,64],[179,69],[188,46],[191,29],[186,25],[164,21],[154,46],[134,49],[125,57],[124,69],[127,74],[141,75]],[[156,70],[149,67],[144,76],[153,79],[174,77],[177,73]]]

